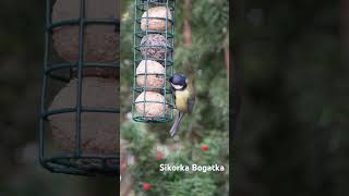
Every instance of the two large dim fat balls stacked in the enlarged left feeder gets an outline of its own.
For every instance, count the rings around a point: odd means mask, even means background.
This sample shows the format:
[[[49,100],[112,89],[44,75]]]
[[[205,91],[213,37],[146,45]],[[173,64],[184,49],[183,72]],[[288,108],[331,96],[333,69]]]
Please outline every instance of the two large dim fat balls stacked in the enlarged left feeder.
[[[117,19],[116,0],[86,0],[86,19]],[[77,20],[80,0],[57,0],[52,9],[52,22]],[[53,49],[65,62],[79,62],[80,26],[60,26],[52,32]],[[84,34],[84,63],[115,63],[119,59],[119,33],[110,24],[88,24]],[[49,110],[76,107],[77,68],[72,69],[75,77],[53,98]],[[119,78],[115,69],[83,68],[82,107],[91,109],[119,109]],[[76,112],[49,117],[52,137],[57,146],[65,152],[76,149]],[[119,154],[119,114],[111,112],[81,113],[82,155],[115,156]],[[83,162],[85,167],[101,167],[98,162]]]

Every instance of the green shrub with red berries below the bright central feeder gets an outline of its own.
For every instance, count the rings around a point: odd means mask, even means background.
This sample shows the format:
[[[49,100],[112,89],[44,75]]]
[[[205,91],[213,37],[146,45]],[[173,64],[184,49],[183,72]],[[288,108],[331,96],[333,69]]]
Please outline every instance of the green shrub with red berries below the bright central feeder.
[[[129,150],[135,157],[135,164],[128,167],[133,176],[136,195],[204,196],[228,194],[228,170],[226,138],[208,135],[197,144],[183,142],[179,150],[171,149],[168,155],[158,150],[156,133],[149,133],[139,123],[128,122],[122,125],[122,136],[129,142]],[[171,146],[171,142],[165,145]],[[207,151],[202,146],[208,147]],[[167,148],[167,146],[165,148]],[[160,157],[159,157],[160,156]],[[225,164],[222,172],[202,172],[191,169],[183,171],[159,171],[160,164],[171,166]],[[151,184],[149,191],[142,188],[143,183]],[[123,187],[121,187],[123,188]]]

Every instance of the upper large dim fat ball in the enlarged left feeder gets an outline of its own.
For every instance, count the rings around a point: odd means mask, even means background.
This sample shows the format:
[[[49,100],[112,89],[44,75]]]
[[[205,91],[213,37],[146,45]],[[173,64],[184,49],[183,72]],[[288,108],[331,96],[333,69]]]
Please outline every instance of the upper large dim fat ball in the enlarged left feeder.
[[[118,19],[116,0],[86,0],[86,19]],[[79,20],[80,0],[57,0],[52,22]],[[64,25],[53,28],[53,48],[67,61],[79,60],[80,27]],[[119,33],[115,25],[87,24],[84,35],[84,60],[88,62],[116,62],[119,59]]]

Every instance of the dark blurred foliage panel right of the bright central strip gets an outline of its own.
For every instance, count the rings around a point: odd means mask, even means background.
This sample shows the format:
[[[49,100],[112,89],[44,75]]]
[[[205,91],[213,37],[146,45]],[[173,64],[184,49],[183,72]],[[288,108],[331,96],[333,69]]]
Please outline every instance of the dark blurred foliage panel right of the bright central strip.
[[[243,100],[232,194],[348,195],[348,53],[340,48],[349,17],[340,15],[349,8],[330,0],[236,5]]]

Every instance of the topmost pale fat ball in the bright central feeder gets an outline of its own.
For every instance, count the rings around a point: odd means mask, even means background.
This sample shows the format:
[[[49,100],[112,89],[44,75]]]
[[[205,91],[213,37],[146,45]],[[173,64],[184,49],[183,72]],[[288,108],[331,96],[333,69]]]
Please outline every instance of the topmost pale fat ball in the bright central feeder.
[[[147,17],[147,19],[146,19]],[[152,19],[157,17],[157,19]],[[166,30],[166,19],[167,19],[167,30],[171,32],[172,15],[169,9],[165,7],[155,7],[145,11],[141,20],[142,30]]]

